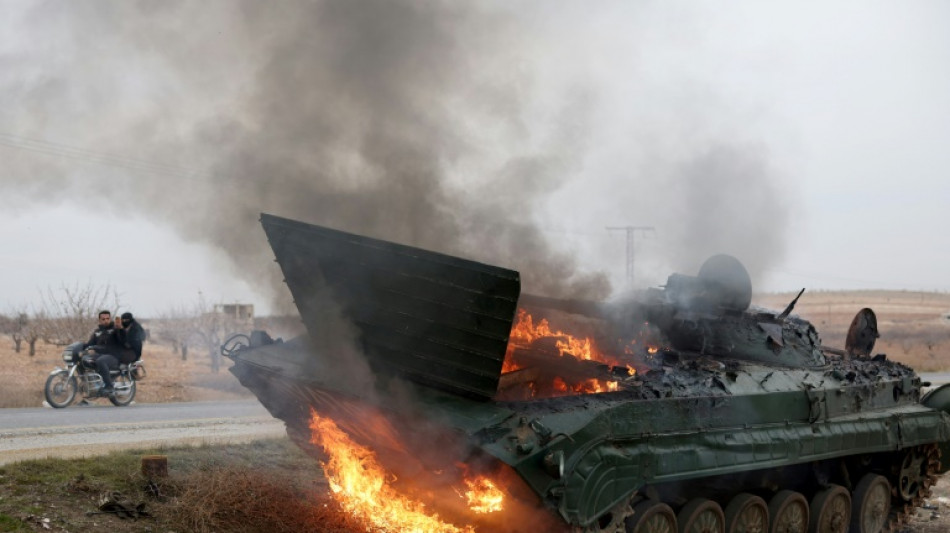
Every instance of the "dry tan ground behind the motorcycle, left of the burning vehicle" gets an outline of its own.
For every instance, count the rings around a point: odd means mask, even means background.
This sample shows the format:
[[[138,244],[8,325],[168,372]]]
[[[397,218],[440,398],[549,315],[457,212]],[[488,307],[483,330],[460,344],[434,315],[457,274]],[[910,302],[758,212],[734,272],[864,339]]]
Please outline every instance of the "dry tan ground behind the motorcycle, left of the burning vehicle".
[[[43,386],[54,367],[63,366],[62,347],[37,343],[36,355],[27,350],[16,353],[13,341],[0,336],[0,408],[39,407],[43,403]],[[230,361],[223,359],[221,370],[211,372],[207,352],[191,351],[188,360],[171,349],[146,343],[142,360],[148,376],[139,383],[135,400],[142,403],[233,400],[253,397],[228,372]]]

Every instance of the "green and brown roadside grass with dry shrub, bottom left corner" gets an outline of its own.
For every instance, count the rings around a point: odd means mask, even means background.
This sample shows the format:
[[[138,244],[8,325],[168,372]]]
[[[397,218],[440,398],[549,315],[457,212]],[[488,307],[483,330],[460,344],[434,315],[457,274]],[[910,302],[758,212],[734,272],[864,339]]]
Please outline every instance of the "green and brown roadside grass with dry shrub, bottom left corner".
[[[149,480],[141,458],[154,454],[168,476]],[[0,466],[0,532],[360,531],[328,494],[319,462],[286,438],[25,461]],[[110,501],[147,516],[100,510]]]

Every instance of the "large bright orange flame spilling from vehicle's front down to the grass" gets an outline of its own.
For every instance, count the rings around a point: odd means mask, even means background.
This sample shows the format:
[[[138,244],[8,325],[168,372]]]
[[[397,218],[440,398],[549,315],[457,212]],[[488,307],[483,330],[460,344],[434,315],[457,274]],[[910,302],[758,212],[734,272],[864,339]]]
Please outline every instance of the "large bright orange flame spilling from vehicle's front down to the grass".
[[[311,442],[329,455],[323,463],[333,498],[351,515],[383,531],[474,533],[443,522],[425,505],[399,494],[372,450],[353,442],[329,418],[311,412]]]

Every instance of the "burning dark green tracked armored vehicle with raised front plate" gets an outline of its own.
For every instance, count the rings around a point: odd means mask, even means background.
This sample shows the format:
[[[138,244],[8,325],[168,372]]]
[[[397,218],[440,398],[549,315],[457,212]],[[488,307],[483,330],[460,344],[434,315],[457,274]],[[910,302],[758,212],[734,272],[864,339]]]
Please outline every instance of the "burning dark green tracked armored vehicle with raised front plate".
[[[236,337],[232,372],[298,445],[319,454],[330,417],[436,508],[432,487],[490,475],[503,511],[440,508],[479,531],[894,531],[950,468],[950,388],[875,355],[873,311],[823,346],[795,301],[750,307],[729,256],[558,300],[497,266],[261,223],[309,336]]]

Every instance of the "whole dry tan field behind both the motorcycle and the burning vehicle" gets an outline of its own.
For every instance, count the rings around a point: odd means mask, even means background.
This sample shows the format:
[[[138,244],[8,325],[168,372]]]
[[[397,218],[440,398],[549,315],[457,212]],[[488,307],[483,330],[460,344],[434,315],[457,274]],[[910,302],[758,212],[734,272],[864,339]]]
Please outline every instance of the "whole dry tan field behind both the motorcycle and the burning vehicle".
[[[783,309],[794,298],[792,293],[759,294],[753,304]],[[922,372],[950,370],[950,294],[907,291],[806,291],[794,313],[811,321],[822,342],[844,347],[851,320],[863,307],[877,314],[881,338],[875,353],[910,365]],[[56,365],[62,365],[62,348],[38,344],[30,357],[24,345],[13,351],[13,341],[0,336],[0,408],[35,407],[43,402],[43,384]],[[187,361],[171,349],[155,343],[145,345],[143,360],[148,377],[140,384],[138,401],[179,402],[250,397],[236,378],[227,371],[224,360],[218,373],[210,370],[206,352],[192,350]],[[105,400],[98,400],[105,401]]]

